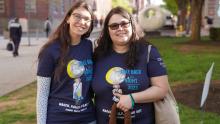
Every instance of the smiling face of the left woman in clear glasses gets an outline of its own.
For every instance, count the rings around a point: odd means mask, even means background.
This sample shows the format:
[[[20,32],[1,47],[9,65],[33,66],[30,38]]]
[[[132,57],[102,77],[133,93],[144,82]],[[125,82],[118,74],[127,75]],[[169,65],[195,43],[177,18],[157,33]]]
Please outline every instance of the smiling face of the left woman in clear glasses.
[[[67,19],[70,35],[82,36],[85,34],[89,30],[91,21],[91,14],[85,8],[75,9]]]

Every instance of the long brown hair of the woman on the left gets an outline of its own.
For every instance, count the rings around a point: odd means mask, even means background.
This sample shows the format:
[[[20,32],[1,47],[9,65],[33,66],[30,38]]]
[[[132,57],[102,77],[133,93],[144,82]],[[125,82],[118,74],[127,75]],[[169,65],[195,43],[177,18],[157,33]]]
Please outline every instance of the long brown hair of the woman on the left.
[[[58,60],[58,67],[55,69],[54,77],[55,79],[59,79],[59,75],[63,72],[66,60],[67,60],[67,54],[69,51],[69,46],[71,44],[71,37],[69,34],[69,24],[67,23],[67,19],[70,18],[72,12],[77,8],[84,8],[91,14],[91,24],[89,27],[89,30],[81,36],[81,39],[88,38],[90,36],[90,33],[93,30],[93,12],[89,5],[85,1],[78,1],[76,2],[66,13],[65,18],[61,22],[61,24],[58,26],[58,28],[55,30],[55,32],[49,37],[48,42],[41,48],[38,59],[40,60],[42,57],[42,54],[46,48],[48,48],[51,44],[54,42],[59,42],[61,45],[60,47],[60,58]]]

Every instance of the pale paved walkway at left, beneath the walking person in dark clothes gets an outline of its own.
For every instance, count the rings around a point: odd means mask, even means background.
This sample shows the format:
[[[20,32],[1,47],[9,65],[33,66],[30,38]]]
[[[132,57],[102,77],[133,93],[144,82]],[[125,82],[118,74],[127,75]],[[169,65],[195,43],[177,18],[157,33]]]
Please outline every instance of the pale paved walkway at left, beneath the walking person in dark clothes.
[[[8,39],[0,37],[0,96],[21,88],[36,79],[37,54],[46,38],[22,38],[19,56],[6,50]]]

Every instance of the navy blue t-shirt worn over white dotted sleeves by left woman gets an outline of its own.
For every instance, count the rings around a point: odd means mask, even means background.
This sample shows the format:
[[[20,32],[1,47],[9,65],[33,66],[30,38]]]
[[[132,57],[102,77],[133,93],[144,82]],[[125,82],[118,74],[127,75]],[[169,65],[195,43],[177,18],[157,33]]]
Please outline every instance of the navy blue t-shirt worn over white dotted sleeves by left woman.
[[[58,81],[53,77],[59,58],[60,43],[55,42],[45,49],[38,64],[37,75],[52,79],[47,124],[87,124],[94,121],[91,41],[84,39],[78,45],[69,46],[67,64]],[[75,77],[79,71],[83,72],[82,75]]]

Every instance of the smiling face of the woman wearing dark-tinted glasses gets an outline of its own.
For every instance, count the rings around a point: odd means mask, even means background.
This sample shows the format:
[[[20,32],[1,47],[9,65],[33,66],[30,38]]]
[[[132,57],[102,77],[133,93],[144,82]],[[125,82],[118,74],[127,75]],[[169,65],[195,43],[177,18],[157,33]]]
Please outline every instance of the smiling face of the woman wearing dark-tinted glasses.
[[[109,35],[113,45],[124,46],[132,36],[131,22],[119,14],[113,15],[108,23]]]

